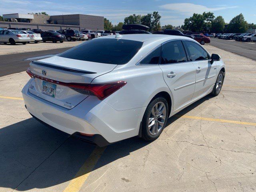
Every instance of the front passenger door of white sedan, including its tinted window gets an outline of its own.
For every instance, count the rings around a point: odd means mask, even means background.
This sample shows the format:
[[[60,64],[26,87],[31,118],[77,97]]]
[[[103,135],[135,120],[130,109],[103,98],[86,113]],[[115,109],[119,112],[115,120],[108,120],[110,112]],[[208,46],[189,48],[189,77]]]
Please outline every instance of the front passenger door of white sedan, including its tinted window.
[[[212,90],[216,81],[216,63],[211,64],[210,55],[202,46],[189,40],[184,41],[188,50],[190,61],[196,68],[196,86],[194,98]]]

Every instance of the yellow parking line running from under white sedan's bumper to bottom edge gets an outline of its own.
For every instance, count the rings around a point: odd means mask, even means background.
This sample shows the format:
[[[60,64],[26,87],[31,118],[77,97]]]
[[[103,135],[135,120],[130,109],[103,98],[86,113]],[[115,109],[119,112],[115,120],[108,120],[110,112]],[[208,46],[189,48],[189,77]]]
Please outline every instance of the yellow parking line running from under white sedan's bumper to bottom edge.
[[[93,150],[63,192],[78,192],[81,189],[105,149],[106,147],[96,147]]]

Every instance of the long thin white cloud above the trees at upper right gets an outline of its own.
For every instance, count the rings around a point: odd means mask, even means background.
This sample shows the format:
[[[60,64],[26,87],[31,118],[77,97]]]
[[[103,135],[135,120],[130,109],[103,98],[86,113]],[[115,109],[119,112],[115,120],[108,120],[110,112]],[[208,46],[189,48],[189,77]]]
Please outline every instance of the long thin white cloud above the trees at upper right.
[[[206,6],[196,5],[193,3],[171,3],[171,4],[161,5],[159,7],[162,9],[179,12],[186,15],[192,15],[193,13],[202,14],[203,12],[209,12],[209,11],[214,12],[219,10],[237,8],[238,6],[219,6],[219,7],[208,8]]]

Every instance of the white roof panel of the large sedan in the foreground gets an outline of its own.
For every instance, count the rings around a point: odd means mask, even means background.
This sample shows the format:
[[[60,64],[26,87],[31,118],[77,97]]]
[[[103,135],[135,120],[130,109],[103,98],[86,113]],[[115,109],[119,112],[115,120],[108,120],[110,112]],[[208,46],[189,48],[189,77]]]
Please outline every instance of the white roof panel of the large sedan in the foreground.
[[[115,35],[103,36],[101,38],[116,38]],[[134,41],[148,41],[148,40],[173,40],[173,39],[187,39],[192,40],[192,38],[185,36],[174,36],[174,35],[162,35],[162,34],[124,34],[121,37],[126,40],[134,40]]]

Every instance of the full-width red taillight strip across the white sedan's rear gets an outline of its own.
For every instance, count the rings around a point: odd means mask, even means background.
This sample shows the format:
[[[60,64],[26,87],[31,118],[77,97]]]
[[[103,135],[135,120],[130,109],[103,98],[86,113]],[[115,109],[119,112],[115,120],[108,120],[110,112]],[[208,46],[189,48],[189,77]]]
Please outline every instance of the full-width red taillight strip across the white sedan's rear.
[[[39,78],[54,84],[67,86],[79,93],[82,93],[82,91],[84,91],[84,93],[86,94],[92,93],[96,97],[98,97],[100,100],[103,100],[104,98],[110,96],[112,93],[116,92],[118,89],[122,88],[127,83],[125,81],[118,81],[118,82],[111,82],[111,83],[104,83],[104,84],[65,83],[65,82],[60,82],[60,81],[48,79],[48,78],[33,74],[30,71],[30,68],[28,68],[26,72],[31,78]]]

